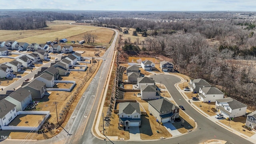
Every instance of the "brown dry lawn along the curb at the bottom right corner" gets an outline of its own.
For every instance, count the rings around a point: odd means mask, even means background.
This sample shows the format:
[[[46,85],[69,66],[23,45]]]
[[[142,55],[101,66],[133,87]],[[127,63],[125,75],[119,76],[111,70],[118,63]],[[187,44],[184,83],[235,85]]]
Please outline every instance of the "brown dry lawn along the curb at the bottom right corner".
[[[230,124],[230,128],[233,128],[234,130],[241,132],[242,134],[245,134],[246,136],[251,137],[252,135],[255,134],[255,132],[247,130],[242,127],[246,123],[246,117],[240,116],[240,117],[234,118],[231,121],[219,120],[219,122],[221,122],[222,124],[225,124],[226,126],[228,126],[228,124]]]

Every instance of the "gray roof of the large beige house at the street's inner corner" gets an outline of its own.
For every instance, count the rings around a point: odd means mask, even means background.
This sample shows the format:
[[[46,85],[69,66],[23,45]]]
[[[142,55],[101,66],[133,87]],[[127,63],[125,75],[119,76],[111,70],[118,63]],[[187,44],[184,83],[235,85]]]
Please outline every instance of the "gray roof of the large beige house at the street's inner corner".
[[[153,106],[158,112],[163,112],[167,110],[174,110],[178,108],[175,104],[167,100],[166,98],[160,98],[158,100],[150,100],[148,104]]]

